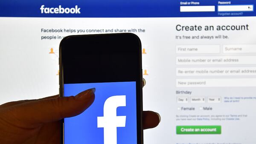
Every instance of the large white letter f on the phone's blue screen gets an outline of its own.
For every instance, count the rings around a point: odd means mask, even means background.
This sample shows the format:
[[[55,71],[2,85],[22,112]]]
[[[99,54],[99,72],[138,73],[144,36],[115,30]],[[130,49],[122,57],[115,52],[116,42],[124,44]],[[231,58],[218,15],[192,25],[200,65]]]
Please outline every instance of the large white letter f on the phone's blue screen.
[[[116,108],[125,106],[125,95],[111,96],[105,101],[104,116],[97,117],[98,127],[104,128],[104,144],[117,144],[116,127],[125,127],[126,116],[116,116]]]

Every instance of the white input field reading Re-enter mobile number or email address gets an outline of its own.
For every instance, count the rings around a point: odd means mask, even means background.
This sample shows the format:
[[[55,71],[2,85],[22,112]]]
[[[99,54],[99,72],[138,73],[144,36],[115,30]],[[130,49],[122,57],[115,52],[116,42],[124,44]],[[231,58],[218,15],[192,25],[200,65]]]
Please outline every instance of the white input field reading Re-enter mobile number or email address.
[[[176,68],[177,76],[256,75],[256,67],[187,67]]]

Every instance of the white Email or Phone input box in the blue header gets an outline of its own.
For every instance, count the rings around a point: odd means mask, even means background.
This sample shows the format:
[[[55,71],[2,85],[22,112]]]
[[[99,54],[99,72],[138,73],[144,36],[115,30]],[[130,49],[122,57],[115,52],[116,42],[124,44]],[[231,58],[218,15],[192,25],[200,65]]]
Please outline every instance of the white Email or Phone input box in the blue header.
[[[180,6],[180,12],[215,12],[215,6]]]

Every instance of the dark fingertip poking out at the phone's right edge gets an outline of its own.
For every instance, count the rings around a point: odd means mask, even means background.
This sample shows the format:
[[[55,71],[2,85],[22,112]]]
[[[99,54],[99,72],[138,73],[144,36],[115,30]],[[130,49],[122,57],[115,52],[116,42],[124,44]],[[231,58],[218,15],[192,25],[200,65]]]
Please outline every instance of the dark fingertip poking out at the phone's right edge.
[[[157,112],[143,111],[143,130],[157,127],[161,121],[161,117]]]

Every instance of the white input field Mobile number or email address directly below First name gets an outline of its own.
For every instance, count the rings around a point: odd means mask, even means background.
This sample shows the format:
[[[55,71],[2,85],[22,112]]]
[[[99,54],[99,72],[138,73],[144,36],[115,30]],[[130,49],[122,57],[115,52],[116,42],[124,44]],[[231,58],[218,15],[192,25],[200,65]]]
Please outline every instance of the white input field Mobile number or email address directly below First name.
[[[176,57],[177,65],[256,64],[256,56],[187,56]]]

